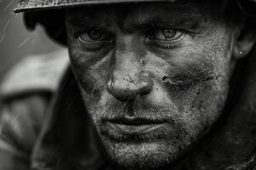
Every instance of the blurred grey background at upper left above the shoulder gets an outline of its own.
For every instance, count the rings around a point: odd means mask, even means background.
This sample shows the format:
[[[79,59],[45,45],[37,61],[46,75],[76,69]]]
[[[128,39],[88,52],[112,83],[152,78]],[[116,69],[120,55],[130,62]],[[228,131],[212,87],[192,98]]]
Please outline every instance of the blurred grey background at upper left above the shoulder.
[[[0,0],[0,82],[15,63],[28,55],[50,53],[62,47],[49,40],[40,26],[27,31],[23,14],[13,12],[19,0]]]

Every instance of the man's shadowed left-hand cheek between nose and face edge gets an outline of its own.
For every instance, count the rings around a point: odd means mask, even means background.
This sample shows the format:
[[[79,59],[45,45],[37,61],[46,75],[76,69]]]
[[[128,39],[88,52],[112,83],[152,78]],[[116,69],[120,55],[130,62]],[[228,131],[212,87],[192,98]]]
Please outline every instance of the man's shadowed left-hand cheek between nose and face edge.
[[[79,48],[70,48],[69,53],[80,86],[91,98],[99,98],[108,82],[110,54],[84,52]]]

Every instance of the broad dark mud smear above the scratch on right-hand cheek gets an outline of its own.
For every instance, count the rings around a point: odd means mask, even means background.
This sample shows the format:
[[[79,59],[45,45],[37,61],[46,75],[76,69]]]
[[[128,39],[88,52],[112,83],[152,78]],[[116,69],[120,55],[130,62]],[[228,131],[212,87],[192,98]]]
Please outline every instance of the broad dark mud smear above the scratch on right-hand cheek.
[[[194,50],[195,49],[188,49]],[[207,52],[192,52],[182,54],[172,59],[172,69],[161,77],[166,87],[171,91],[182,92],[195,86],[198,82],[213,80],[214,65]]]

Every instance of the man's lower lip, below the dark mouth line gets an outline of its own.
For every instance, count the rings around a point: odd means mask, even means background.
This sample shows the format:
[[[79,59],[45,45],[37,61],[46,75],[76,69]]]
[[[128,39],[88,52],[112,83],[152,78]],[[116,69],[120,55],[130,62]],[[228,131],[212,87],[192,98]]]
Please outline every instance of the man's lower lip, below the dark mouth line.
[[[163,127],[166,123],[145,124],[145,125],[127,125],[113,122],[106,122],[107,128],[124,135],[142,135],[152,133],[153,131]]]

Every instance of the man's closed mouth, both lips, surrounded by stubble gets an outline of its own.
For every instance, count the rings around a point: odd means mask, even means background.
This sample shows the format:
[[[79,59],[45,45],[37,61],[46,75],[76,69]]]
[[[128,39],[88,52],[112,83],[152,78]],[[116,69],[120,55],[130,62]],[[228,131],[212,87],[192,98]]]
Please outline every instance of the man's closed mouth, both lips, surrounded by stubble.
[[[122,116],[107,119],[103,122],[105,129],[113,139],[126,139],[122,137],[139,137],[157,133],[160,128],[166,126],[163,120],[148,119],[144,117]]]

